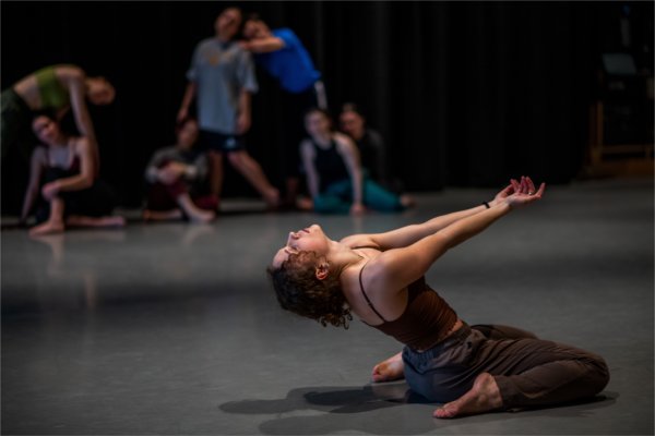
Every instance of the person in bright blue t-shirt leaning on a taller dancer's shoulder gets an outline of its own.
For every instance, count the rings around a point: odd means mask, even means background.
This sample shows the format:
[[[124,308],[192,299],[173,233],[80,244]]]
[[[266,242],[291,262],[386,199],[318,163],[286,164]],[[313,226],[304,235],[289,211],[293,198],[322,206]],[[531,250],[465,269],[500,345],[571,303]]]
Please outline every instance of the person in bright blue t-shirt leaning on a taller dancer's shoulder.
[[[312,107],[327,109],[321,73],[298,36],[290,28],[271,29],[252,14],[243,25],[241,47],[254,55],[255,62],[279,82],[283,100],[284,147],[281,157],[286,178],[284,203],[294,207],[300,179],[298,144],[305,137],[303,114]]]

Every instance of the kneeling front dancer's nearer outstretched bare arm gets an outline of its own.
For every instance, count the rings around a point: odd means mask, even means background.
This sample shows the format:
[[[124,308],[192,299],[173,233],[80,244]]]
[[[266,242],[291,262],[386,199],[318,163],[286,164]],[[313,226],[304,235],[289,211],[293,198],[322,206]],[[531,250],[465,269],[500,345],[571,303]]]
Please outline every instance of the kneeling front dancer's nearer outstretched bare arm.
[[[397,292],[426,274],[446,251],[484,231],[513,208],[535,202],[544,194],[546,185],[534,191],[529,178],[513,182],[511,195],[493,207],[458,219],[412,245],[389,250],[370,262],[367,267],[369,283],[382,292]]]

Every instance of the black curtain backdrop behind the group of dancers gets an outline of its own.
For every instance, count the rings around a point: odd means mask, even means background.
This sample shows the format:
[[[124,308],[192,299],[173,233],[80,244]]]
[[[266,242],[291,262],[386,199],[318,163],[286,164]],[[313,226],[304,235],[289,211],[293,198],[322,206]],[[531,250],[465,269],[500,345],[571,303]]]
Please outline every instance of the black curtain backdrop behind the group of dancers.
[[[117,99],[92,108],[103,178],[136,206],[150,155],[174,141],[193,47],[235,4],[295,29],[331,109],[360,105],[410,191],[501,185],[522,173],[571,181],[584,162],[599,55],[626,50],[626,5],[630,50],[640,66],[653,63],[653,2],[2,1],[2,88],[51,63],[107,76]],[[281,183],[282,96],[258,76],[249,150]],[[17,210],[26,177],[17,160],[2,162],[3,213]],[[235,194],[253,191],[230,171],[226,195]]]

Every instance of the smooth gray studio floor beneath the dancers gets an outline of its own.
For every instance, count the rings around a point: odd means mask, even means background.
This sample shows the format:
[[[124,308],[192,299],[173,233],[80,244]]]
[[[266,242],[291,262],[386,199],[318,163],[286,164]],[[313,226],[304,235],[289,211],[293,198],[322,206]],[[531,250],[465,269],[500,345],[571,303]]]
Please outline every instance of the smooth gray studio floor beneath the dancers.
[[[290,229],[382,231],[492,194],[448,189],[359,219],[231,203],[209,226],[3,230],[2,434],[652,435],[652,180],[551,186],[428,275],[469,323],[604,355],[611,382],[596,401],[434,420],[404,383],[369,383],[400,350],[392,339],[278,308],[264,267]]]

